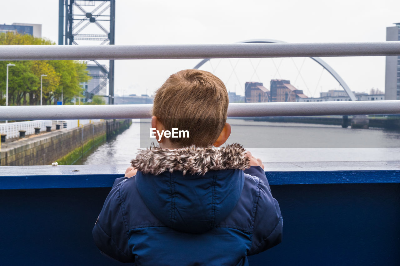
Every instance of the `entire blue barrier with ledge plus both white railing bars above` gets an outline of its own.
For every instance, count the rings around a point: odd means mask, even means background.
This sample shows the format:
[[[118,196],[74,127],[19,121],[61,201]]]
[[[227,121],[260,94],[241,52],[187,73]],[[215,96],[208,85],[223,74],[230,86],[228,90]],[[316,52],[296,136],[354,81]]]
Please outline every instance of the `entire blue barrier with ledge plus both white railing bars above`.
[[[181,46],[2,46],[0,60],[399,56],[400,42]],[[0,119],[148,118],[151,105],[8,106]],[[229,117],[400,114],[399,101],[232,103]],[[250,265],[400,265],[400,162],[264,163],[284,217]],[[92,228],[126,165],[0,167],[2,265],[122,265]],[[190,254],[188,254],[190,256]]]

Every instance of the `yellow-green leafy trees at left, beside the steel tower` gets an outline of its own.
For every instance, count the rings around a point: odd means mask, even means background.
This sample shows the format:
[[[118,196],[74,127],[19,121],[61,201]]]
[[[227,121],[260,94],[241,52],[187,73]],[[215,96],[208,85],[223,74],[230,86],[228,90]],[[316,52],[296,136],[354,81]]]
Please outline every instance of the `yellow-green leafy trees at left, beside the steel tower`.
[[[20,35],[11,32],[0,33],[0,45],[55,45],[54,42],[31,35]],[[74,96],[82,95],[84,89],[81,82],[90,79],[86,64],[72,60],[42,60],[42,61],[0,61],[0,105],[5,104],[6,65],[9,67],[8,104],[38,105],[40,104],[40,76],[43,77],[43,105],[56,104],[61,101],[68,103]]]

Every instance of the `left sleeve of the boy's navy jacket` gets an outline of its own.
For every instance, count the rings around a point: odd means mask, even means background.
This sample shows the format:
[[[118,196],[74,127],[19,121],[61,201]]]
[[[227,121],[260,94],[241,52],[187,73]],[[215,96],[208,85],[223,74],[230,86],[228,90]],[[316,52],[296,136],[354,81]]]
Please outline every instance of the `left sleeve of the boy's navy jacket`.
[[[124,179],[114,182],[92,230],[94,242],[101,253],[120,262],[134,262],[128,248],[128,229],[122,213],[121,185]],[[122,183],[121,183],[122,182]]]

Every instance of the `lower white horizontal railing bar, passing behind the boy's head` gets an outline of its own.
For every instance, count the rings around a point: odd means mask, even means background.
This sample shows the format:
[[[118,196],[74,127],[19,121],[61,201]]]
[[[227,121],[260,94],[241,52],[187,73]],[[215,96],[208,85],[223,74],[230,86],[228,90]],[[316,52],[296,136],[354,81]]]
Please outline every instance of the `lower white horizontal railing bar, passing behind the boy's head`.
[[[150,104],[1,106],[0,120],[129,119],[151,117]],[[400,101],[230,103],[228,117],[400,114]]]

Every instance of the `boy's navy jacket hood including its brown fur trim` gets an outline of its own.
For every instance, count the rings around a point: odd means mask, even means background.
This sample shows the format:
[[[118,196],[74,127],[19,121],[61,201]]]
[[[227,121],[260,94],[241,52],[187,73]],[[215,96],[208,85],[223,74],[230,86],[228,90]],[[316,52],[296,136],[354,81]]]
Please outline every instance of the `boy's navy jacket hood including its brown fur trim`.
[[[201,234],[222,222],[236,206],[249,165],[245,149],[140,149],[132,167],[146,206],[163,224]]]

